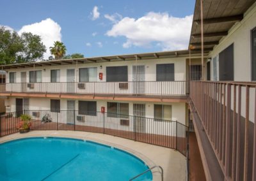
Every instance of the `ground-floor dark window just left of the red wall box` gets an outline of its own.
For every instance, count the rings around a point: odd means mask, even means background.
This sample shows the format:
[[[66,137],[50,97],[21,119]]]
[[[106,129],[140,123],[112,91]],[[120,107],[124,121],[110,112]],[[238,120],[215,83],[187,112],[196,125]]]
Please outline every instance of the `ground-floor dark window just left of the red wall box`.
[[[97,115],[96,101],[78,101],[79,115]]]

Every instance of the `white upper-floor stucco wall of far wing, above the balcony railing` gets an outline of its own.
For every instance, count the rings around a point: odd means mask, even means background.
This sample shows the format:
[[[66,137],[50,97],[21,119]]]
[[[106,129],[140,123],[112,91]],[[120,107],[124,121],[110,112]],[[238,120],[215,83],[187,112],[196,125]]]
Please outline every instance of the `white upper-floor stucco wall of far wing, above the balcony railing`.
[[[160,58],[138,60],[137,65],[145,66],[145,81],[156,80],[156,64],[172,64],[174,63],[175,80],[186,80],[186,57]],[[106,67],[107,66],[128,66],[128,81],[132,81],[132,66],[136,65],[136,61],[116,61],[116,62],[97,62],[77,64],[76,82],[78,79],[79,68],[97,68],[98,82],[106,82]],[[102,66],[102,69],[100,69]],[[67,82],[67,69],[76,69],[76,64],[61,65],[61,66],[42,66],[36,67],[35,70],[42,70],[42,82],[51,82],[51,69],[60,69],[60,82]],[[20,82],[20,72],[26,71],[27,82],[29,82],[29,71],[33,68],[10,69],[6,74],[6,83],[9,83],[9,73],[16,72],[16,82]],[[103,73],[103,80],[99,80],[99,73]]]

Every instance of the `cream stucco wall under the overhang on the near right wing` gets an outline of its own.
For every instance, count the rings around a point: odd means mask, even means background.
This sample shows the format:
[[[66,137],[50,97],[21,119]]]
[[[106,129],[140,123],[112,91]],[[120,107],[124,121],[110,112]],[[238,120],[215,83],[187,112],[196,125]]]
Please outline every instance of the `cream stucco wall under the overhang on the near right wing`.
[[[237,22],[228,31],[228,35],[209,54],[209,58],[213,59],[221,51],[234,43],[234,81],[252,81],[251,31],[255,27],[256,3],[244,14],[243,20]],[[212,68],[211,61],[211,80],[213,79]]]

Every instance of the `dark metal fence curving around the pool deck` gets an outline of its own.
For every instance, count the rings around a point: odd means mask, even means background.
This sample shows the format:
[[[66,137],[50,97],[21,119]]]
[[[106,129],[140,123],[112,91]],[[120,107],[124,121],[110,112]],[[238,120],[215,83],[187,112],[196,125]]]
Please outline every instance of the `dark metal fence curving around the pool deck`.
[[[22,113],[31,115],[31,130],[70,130],[110,134],[134,141],[175,148],[186,156],[188,127],[177,121],[158,120],[116,113],[76,110],[24,110],[0,116],[0,137],[19,132]],[[49,121],[47,121],[49,120]]]

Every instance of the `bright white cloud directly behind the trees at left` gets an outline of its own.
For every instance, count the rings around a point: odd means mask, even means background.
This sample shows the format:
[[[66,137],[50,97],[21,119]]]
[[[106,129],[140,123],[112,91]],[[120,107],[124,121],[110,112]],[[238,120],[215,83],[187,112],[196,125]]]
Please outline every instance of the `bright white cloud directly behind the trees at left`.
[[[61,27],[51,18],[47,18],[34,24],[22,26],[18,33],[22,34],[24,32],[30,32],[41,36],[42,42],[46,47],[44,59],[48,59],[48,57],[51,56],[49,47],[53,46],[54,41],[61,41]]]

